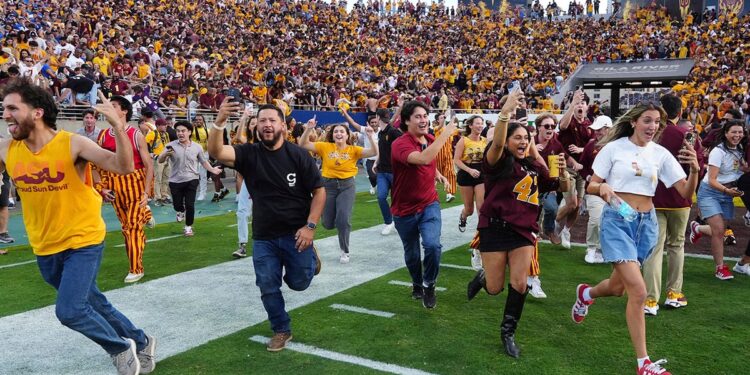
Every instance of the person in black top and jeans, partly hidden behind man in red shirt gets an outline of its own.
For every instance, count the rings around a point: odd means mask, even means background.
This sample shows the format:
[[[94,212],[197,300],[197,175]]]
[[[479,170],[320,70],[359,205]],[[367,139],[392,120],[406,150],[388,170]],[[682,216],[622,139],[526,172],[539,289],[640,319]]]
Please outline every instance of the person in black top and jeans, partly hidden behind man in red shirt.
[[[383,230],[380,234],[387,236],[393,232],[393,215],[388,205],[388,193],[393,186],[393,168],[391,167],[391,144],[401,136],[401,130],[393,127],[388,118],[388,111],[379,109],[377,112],[380,120],[380,133],[378,133],[378,160],[375,161],[373,169],[378,175],[378,206],[383,215]]]

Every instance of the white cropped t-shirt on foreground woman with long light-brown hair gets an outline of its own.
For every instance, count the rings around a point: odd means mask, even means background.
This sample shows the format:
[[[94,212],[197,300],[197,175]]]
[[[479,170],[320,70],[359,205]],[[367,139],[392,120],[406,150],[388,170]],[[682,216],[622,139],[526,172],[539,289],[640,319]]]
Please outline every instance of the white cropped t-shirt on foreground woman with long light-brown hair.
[[[666,148],[649,142],[637,146],[628,137],[606,144],[594,159],[594,173],[618,193],[654,196],[658,180],[672,187],[686,177],[682,166]]]

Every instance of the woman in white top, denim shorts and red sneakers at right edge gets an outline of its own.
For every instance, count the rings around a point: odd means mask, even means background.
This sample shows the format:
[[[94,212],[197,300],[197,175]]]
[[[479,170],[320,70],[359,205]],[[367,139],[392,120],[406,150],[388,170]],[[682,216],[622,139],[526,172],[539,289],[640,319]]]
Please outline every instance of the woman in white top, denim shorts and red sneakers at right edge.
[[[733,200],[743,195],[737,188],[737,179],[748,170],[740,144],[743,136],[744,124],[740,120],[727,121],[722,127],[716,147],[708,154],[708,173],[698,189],[698,207],[707,225],[690,222],[691,243],[698,242],[704,234],[711,237],[711,254],[716,264],[714,276],[719,280],[734,278],[724,264],[724,220],[734,218]]]

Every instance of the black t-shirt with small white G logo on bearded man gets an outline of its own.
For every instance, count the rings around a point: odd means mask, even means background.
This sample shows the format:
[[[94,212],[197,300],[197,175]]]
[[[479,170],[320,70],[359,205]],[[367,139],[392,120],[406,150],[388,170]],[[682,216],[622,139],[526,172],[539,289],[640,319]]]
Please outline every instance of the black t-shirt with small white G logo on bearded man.
[[[260,143],[234,146],[234,168],[253,197],[253,239],[294,234],[307,224],[313,190],[323,186],[310,153],[284,142],[270,151]]]

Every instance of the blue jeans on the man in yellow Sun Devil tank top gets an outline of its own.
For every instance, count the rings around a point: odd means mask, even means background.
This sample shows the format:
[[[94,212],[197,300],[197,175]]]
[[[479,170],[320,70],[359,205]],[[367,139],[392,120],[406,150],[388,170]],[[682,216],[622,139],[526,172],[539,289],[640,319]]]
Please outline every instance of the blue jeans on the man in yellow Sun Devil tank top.
[[[57,289],[55,315],[64,326],[80,332],[109,354],[127,350],[130,344],[125,338],[133,339],[142,350],[146,335],[96,286],[103,251],[104,243],[100,243],[36,258],[44,281]]]

